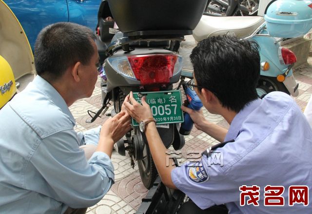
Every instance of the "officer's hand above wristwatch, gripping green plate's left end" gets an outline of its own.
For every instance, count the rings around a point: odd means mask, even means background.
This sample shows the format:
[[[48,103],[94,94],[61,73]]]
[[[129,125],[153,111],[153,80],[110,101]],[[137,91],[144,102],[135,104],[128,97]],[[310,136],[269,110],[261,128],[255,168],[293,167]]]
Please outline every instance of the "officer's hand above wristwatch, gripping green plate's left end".
[[[146,97],[143,97],[141,102],[142,105],[139,104],[136,99],[133,97],[132,91],[130,95],[125,98],[123,105],[125,110],[133,117],[138,123],[147,118],[153,117],[151,107],[145,102]],[[132,105],[129,103],[132,103]]]

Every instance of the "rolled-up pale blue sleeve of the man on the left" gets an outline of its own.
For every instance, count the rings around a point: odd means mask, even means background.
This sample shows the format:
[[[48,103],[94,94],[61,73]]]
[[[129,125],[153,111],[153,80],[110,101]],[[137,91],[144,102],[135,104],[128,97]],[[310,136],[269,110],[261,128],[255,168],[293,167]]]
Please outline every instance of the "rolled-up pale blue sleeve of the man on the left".
[[[87,162],[84,151],[79,150],[74,130],[41,140],[30,163],[26,172],[38,171],[43,179],[36,184],[26,180],[25,187],[72,208],[95,205],[114,183],[114,167],[109,156],[98,151]]]

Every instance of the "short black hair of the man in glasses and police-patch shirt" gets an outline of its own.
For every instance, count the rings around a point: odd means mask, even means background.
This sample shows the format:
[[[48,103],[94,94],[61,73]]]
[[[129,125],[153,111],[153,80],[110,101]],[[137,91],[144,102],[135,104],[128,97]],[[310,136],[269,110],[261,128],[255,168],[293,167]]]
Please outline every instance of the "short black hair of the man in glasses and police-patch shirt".
[[[260,77],[259,45],[230,36],[207,38],[190,55],[198,91],[206,88],[223,107],[239,112],[256,99]]]

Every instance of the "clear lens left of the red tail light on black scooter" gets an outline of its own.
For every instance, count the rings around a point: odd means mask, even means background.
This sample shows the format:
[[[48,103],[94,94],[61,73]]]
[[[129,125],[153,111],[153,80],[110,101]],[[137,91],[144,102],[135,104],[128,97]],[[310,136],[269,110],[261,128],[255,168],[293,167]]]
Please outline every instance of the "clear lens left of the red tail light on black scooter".
[[[137,80],[131,65],[128,61],[128,57],[112,57],[107,60],[114,70],[122,76]]]

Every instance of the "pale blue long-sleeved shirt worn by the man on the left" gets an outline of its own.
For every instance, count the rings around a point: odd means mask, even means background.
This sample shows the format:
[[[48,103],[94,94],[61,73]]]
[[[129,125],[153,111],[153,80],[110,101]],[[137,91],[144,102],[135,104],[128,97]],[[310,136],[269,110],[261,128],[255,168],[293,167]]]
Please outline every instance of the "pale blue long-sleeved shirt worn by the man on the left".
[[[97,151],[87,161],[79,149],[97,144],[98,133],[77,133],[64,99],[40,76],[0,110],[0,118],[1,214],[90,207],[114,183],[107,154]]]

